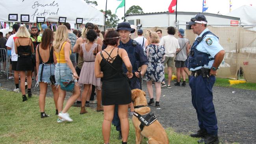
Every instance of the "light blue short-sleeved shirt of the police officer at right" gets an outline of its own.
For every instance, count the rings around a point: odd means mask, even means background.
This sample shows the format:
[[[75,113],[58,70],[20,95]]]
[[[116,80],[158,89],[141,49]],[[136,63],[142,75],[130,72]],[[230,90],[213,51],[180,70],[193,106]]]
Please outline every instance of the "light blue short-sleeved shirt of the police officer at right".
[[[208,28],[206,28],[204,31],[202,31],[202,33],[200,33],[200,35],[198,35],[197,37],[202,37],[202,35],[206,32],[209,31]],[[197,39],[196,37],[196,39]],[[224,50],[223,47],[221,46],[221,44],[219,44],[219,39],[217,37],[215,37],[214,35],[211,34],[207,34],[204,39],[202,39],[202,41],[197,45],[196,49],[200,52],[204,52],[206,54],[210,54],[211,56],[209,58],[213,58],[215,57],[215,55],[221,51]],[[204,68],[208,68],[211,69],[212,65],[213,65],[214,60],[209,61],[208,65],[204,65]],[[191,71],[195,71],[195,70],[199,70],[200,68],[202,68],[202,66],[198,66],[196,68],[190,68],[189,70]]]

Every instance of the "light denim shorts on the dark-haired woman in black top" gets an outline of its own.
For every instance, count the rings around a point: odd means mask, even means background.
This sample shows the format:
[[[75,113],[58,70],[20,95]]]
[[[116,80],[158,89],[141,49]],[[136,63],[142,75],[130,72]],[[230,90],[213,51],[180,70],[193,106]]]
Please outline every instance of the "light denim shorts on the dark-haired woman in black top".
[[[43,67],[43,72],[41,71]],[[50,84],[50,76],[54,75],[55,65],[54,64],[43,64],[39,65],[37,83],[44,82]],[[42,74],[41,74],[42,72]],[[42,80],[41,80],[42,79]]]

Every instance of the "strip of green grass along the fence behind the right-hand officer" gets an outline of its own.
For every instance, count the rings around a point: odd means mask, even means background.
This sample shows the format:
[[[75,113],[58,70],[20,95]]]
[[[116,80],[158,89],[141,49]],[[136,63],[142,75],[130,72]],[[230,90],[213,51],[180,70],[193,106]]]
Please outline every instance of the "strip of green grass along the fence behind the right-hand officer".
[[[165,74],[165,79],[168,79],[167,74]],[[256,83],[246,82],[246,83],[239,83],[236,85],[230,85],[228,80],[229,79],[226,79],[226,78],[216,78],[214,85],[219,87],[232,87],[237,89],[256,90]],[[186,81],[188,82],[188,79],[186,79]]]

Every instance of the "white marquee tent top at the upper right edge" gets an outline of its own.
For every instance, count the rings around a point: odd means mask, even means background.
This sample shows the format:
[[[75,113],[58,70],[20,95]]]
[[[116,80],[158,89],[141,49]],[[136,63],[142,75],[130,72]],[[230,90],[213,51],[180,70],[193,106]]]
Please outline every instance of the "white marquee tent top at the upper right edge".
[[[241,6],[237,9],[234,9],[230,13],[226,14],[231,17],[241,18],[241,25],[252,25],[256,24],[256,7],[252,6]]]

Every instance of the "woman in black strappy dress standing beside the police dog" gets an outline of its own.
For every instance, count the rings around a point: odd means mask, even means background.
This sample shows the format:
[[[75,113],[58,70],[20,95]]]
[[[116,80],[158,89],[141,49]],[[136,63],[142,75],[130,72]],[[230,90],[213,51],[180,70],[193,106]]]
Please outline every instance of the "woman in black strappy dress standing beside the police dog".
[[[132,78],[133,74],[127,52],[122,48],[117,48],[119,40],[120,36],[117,31],[108,31],[106,39],[103,41],[107,48],[99,52],[95,59],[95,76],[102,78],[102,105],[104,109],[102,135],[105,144],[109,143],[115,105],[118,105],[123,143],[127,142],[129,134],[127,113],[128,104],[132,102],[131,89],[125,75],[122,74],[122,63],[124,63],[128,70],[126,76]]]

